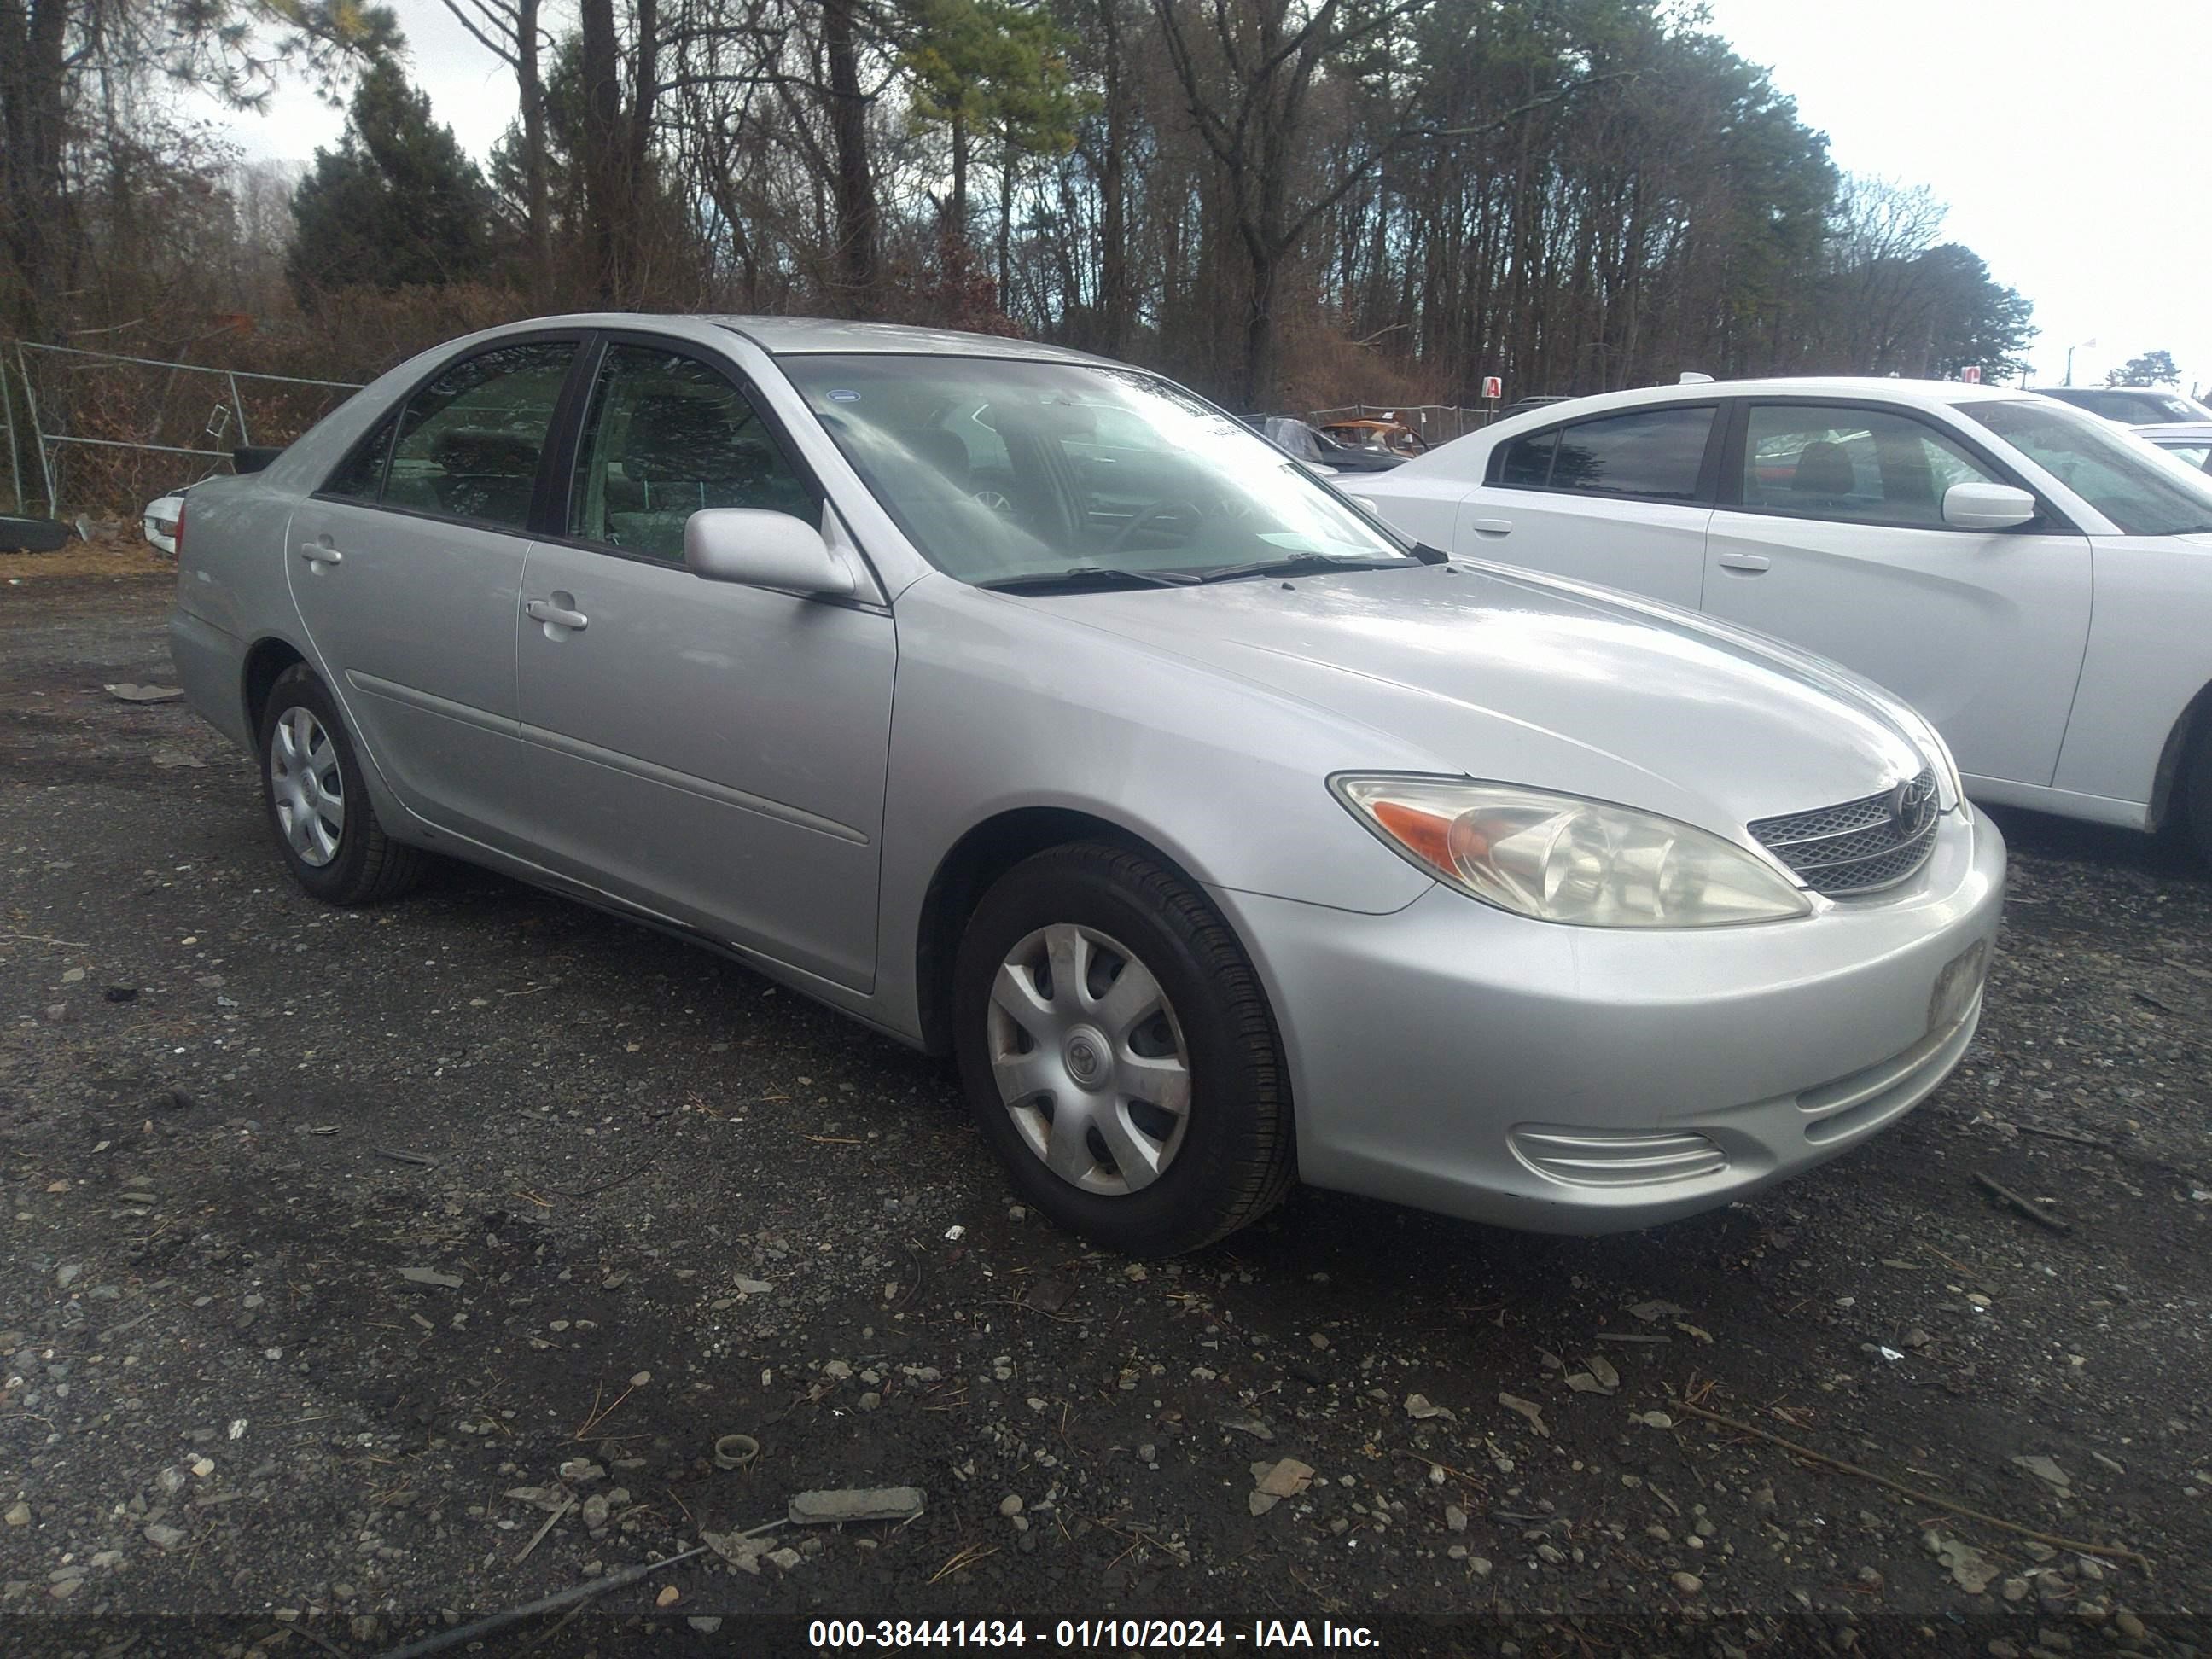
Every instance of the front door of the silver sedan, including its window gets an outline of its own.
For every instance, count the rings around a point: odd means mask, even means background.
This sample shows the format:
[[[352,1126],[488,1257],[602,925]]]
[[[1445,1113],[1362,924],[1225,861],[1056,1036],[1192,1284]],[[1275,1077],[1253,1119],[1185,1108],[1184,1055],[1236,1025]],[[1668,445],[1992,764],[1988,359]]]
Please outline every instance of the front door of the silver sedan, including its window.
[[[684,568],[703,507],[821,520],[717,367],[615,343],[566,535],[531,546],[520,706],[540,841],[595,887],[867,991],[891,737],[891,617]]]

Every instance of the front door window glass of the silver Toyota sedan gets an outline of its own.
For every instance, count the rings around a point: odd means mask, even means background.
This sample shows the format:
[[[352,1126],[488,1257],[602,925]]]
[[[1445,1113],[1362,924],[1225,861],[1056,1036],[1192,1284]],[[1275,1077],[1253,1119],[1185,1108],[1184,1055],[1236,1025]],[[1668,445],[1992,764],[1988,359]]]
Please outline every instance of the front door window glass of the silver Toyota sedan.
[[[608,347],[577,449],[568,533],[681,562],[684,524],[703,507],[821,518],[774,434],[721,374],[650,345]]]

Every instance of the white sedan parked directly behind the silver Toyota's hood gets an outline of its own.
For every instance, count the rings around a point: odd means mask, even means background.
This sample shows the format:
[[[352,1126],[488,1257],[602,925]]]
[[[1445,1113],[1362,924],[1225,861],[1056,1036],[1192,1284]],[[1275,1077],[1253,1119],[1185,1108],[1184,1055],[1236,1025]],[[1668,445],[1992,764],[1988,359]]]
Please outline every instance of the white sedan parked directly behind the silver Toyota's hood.
[[[2183,816],[2212,858],[2212,478],[2097,416],[1938,380],[1648,387],[1345,482],[1433,546],[1856,668],[1978,801]]]

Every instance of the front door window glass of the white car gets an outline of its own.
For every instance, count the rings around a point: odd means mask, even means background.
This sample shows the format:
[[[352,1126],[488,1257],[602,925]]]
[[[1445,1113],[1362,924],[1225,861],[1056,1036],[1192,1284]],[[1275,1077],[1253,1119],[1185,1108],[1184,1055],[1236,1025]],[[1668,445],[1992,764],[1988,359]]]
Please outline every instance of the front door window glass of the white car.
[[[1951,484],[2000,484],[1958,442],[1874,409],[1754,407],[1743,507],[1865,524],[1944,529]]]

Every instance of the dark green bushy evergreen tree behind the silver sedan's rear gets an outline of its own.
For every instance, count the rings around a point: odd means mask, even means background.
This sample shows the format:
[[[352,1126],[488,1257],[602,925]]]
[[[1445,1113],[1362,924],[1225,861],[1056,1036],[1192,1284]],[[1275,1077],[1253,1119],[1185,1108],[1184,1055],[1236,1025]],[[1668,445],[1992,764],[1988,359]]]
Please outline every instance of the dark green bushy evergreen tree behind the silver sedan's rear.
[[[495,257],[489,219],[476,161],[385,60],[361,77],[338,148],[316,150],[292,195],[288,274],[303,303],[356,283],[476,281]]]

